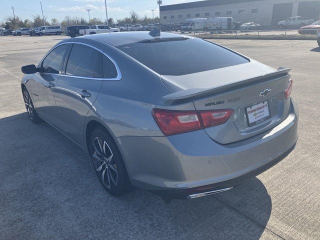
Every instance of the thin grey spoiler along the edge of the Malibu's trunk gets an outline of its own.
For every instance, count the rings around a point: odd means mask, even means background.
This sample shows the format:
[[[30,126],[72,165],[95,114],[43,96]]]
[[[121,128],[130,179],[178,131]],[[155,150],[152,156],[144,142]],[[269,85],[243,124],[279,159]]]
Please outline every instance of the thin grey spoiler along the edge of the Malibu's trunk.
[[[186,89],[182,91],[177,91],[170,93],[168,95],[162,96],[163,99],[168,99],[168,100],[177,100],[177,99],[185,99],[185,98],[190,98],[190,97],[198,97],[206,94],[212,94],[212,93],[218,93],[221,92],[225,89],[232,90],[233,88],[239,88],[239,87],[244,87],[248,84],[252,84],[254,82],[263,82],[263,81],[268,81],[271,80],[272,78],[276,77],[283,77],[288,75],[288,73],[291,71],[291,68],[283,68],[280,67],[277,69],[277,71],[263,74],[260,76],[255,76],[252,78],[247,78],[241,81],[236,81],[230,84],[226,85],[220,85],[217,87],[213,88],[191,88],[191,89]]]

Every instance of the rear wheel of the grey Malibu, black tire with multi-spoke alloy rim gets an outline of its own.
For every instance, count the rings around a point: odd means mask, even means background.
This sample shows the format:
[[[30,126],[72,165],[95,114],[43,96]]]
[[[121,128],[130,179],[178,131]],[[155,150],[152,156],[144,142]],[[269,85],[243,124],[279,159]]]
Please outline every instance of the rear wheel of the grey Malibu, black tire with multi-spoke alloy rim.
[[[130,190],[131,183],[120,151],[102,127],[97,127],[91,133],[90,155],[94,171],[108,193],[121,196]]]

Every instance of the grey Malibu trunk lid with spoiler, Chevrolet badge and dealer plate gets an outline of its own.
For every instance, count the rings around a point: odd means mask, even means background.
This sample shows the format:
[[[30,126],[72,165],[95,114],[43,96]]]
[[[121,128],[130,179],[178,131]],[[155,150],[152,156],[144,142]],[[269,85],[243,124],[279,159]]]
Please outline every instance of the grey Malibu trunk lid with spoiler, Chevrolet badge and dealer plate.
[[[290,105],[283,92],[290,80],[289,70],[277,71],[251,60],[188,75],[162,76],[174,92],[163,98],[188,99],[196,110],[233,109],[227,122],[204,129],[213,140],[227,144],[266,131],[285,119]],[[255,121],[255,113],[262,108],[265,116]]]

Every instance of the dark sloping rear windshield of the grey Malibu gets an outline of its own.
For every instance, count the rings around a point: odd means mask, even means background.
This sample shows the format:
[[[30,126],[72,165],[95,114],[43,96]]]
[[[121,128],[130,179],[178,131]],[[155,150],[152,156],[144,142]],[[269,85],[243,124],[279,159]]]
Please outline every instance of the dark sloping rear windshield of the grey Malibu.
[[[249,62],[199,38],[162,38],[116,47],[161,75],[184,75]]]

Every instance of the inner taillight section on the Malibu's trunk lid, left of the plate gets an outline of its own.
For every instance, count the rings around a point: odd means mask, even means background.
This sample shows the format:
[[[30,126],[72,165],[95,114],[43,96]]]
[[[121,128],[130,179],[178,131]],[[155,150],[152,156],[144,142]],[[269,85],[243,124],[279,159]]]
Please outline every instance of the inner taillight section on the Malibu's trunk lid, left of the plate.
[[[223,124],[233,113],[232,109],[200,111],[203,127]]]

